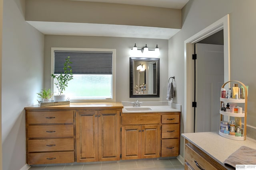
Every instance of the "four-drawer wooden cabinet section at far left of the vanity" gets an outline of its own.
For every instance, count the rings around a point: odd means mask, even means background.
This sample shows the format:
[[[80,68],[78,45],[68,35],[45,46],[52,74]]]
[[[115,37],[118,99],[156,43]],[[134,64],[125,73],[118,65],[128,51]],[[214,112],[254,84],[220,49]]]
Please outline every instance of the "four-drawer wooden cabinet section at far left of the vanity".
[[[74,162],[73,111],[26,110],[27,164]]]

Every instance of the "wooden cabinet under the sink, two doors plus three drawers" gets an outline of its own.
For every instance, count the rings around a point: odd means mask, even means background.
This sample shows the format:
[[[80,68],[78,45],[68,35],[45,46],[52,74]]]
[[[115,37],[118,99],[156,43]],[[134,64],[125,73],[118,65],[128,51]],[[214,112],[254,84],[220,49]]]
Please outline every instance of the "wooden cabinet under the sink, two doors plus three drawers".
[[[178,156],[180,112],[123,113],[122,159]]]

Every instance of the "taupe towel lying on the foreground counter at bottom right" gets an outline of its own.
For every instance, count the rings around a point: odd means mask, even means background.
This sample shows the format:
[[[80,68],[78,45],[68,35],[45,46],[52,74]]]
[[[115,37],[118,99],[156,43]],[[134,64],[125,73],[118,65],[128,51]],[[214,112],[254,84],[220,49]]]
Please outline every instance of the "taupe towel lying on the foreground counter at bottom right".
[[[256,150],[242,146],[232,153],[225,161],[224,165],[228,168],[236,169],[236,165],[255,165]]]

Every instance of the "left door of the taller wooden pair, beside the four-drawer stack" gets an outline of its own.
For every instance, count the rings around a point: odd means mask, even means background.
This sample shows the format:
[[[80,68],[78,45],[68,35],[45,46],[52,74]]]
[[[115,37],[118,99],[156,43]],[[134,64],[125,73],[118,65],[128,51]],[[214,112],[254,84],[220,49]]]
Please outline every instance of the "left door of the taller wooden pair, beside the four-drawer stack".
[[[98,111],[76,112],[76,162],[98,161]]]

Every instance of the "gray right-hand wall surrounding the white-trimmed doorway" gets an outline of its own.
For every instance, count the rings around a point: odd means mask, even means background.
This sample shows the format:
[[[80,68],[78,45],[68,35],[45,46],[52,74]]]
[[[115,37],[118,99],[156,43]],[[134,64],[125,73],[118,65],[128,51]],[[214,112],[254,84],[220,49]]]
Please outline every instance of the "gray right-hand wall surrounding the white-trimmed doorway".
[[[190,0],[182,9],[182,29],[169,39],[169,75],[175,75],[175,103],[184,106],[184,41],[230,14],[230,76],[249,86],[247,123],[256,126],[255,0]],[[173,61],[173,62],[171,62]],[[182,107],[184,120],[184,107]],[[181,132],[184,132],[183,125]],[[180,154],[183,156],[183,141]]]

